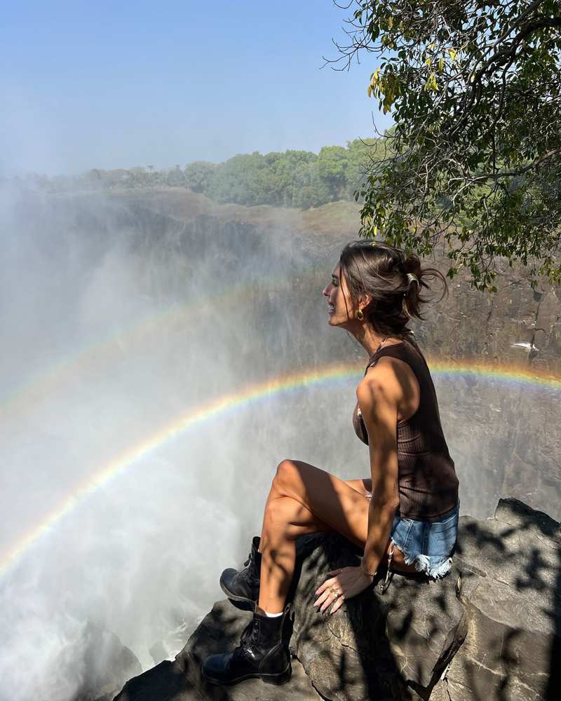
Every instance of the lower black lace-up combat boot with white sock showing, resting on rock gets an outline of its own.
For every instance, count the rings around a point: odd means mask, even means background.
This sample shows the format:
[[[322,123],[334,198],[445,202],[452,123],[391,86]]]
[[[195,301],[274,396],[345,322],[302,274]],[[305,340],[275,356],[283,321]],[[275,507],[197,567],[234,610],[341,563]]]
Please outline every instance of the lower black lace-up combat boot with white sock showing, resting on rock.
[[[253,620],[242,633],[238,647],[233,653],[206,658],[203,677],[213,684],[236,684],[255,677],[268,684],[286,683],[292,674],[288,645],[283,640],[289,611],[290,604],[283,615],[267,618],[262,608],[255,606]]]

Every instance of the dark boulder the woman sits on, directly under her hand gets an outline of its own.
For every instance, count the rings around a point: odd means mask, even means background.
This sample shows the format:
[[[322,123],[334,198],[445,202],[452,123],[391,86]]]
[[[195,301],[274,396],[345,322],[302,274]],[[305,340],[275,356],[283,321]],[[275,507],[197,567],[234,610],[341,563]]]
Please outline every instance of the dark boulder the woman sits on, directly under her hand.
[[[339,536],[313,536],[294,599],[292,648],[314,686],[327,698],[402,697],[410,681],[430,688],[466,631],[454,573],[440,583],[394,576],[346,604],[336,616],[310,606],[331,569],[357,564]]]

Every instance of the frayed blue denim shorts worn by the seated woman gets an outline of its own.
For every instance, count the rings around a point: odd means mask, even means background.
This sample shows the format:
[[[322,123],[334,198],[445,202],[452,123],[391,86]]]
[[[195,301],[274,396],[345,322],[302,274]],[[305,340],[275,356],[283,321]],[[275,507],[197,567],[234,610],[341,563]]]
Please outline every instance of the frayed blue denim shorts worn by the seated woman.
[[[458,536],[460,503],[447,511],[438,521],[414,521],[396,515],[391,529],[391,541],[401,552],[406,564],[428,577],[444,577],[452,567],[452,551]]]

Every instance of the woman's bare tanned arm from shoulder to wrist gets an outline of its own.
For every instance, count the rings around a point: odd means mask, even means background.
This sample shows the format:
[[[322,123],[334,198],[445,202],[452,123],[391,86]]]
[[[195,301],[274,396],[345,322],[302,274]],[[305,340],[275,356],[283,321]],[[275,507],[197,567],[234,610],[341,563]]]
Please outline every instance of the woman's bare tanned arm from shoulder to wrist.
[[[390,358],[380,358],[356,390],[369,437],[372,475],[372,500],[364,550],[364,567],[368,572],[376,571],[384,557],[399,505],[396,427],[403,388],[396,370]]]

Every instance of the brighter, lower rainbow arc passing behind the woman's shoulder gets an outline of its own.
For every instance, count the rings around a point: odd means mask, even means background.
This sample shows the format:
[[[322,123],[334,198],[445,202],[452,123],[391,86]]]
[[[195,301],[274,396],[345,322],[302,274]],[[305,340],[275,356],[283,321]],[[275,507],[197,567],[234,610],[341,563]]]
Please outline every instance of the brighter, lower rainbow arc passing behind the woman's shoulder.
[[[435,359],[430,362],[433,376],[444,379],[463,376],[484,381],[494,380],[509,386],[514,384],[526,388],[548,388],[555,392],[561,391],[561,377],[543,373],[536,374],[528,369],[506,365],[485,365],[473,361],[444,362]],[[363,365],[346,363],[267,379],[247,386],[238,392],[218,397],[196,407],[187,414],[175,417],[173,421],[162,426],[146,440],[130,446],[109,463],[103,465],[94,475],[80,484],[76,484],[72,493],[57,508],[43,516],[39,524],[20,536],[18,542],[10,550],[1,554],[0,576],[8,573],[33,545],[38,543],[43,536],[52,532],[58,522],[72,512],[86,497],[107,484],[111,479],[133,468],[136,463],[156,451],[158,447],[182,435],[185,431],[205,421],[223,416],[229,411],[248,407],[255,402],[311,386],[330,386],[334,383],[358,381],[362,374]]]

